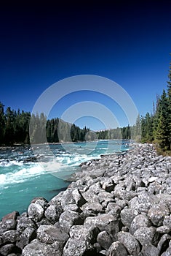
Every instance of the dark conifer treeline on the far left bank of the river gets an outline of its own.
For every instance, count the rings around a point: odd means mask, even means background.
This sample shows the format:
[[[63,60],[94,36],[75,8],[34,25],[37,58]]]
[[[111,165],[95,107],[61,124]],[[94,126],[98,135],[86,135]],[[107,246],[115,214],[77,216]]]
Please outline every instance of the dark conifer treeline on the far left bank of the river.
[[[81,129],[60,118],[47,120],[44,113],[31,115],[30,112],[10,107],[4,111],[0,102],[0,145],[76,142],[95,138],[95,132],[87,127]]]

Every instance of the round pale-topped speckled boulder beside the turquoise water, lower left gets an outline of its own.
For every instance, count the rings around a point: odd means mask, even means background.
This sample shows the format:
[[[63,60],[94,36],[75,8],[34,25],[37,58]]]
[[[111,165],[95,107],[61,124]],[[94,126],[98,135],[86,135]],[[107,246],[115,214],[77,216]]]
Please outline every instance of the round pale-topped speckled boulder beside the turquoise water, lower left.
[[[35,222],[39,222],[44,216],[44,208],[38,203],[31,203],[28,206],[28,216]]]

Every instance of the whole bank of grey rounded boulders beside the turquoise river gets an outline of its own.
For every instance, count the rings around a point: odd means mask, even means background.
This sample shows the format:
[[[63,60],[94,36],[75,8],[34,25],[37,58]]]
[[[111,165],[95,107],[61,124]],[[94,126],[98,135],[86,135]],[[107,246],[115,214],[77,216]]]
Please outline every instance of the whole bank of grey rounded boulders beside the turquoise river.
[[[68,189],[0,222],[0,255],[171,255],[171,157],[134,144],[81,165]]]

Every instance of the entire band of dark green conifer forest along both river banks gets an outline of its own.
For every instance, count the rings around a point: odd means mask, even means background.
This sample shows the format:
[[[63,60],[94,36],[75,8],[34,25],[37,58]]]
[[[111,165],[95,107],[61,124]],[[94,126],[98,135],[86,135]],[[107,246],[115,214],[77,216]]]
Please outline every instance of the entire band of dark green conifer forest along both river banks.
[[[89,128],[81,129],[60,118],[48,119],[44,113],[31,115],[23,110],[4,111],[0,102],[0,145],[14,143],[58,143],[66,141],[84,141],[95,139],[133,139],[141,142],[154,142],[162,151],[171,150],[171,64],[167,82],[167,91],[163,90],[156,99],[153,113],[138,116],[133,127],[93,132]]]

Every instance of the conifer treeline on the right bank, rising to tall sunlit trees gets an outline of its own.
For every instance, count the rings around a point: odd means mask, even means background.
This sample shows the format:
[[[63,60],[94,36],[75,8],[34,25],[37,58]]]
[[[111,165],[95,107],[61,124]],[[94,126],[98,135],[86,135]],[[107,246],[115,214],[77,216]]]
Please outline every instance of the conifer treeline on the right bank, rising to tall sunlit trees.
[[[138,116],[133,127],[122,127],[98,132],[99,139],[130,139],[156,143],[162,151],[171,151],[171,63],[167,91],[157,97],[153,113]]]

